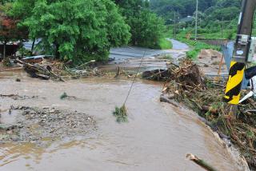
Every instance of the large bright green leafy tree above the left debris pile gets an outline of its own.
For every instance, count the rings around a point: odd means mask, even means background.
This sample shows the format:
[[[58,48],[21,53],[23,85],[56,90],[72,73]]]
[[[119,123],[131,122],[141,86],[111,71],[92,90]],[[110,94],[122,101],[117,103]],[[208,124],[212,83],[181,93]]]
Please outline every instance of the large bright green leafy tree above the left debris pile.
[[[42,38],[46,52],[74,62],[106,60],[111,46],[130,39],[129,26],[110,0],[41,0],[25,24],[31,38]]]

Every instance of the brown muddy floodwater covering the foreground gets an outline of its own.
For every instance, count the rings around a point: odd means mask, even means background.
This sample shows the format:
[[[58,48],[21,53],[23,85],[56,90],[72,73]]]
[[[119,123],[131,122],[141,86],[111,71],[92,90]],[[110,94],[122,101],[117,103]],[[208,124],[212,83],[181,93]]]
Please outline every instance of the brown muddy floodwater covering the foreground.
[[[97,129],[59,141],[2,143],[0,170],[203,170],[188,161],[186,153],[198,155],[219,170],[242,170],[194,113],[159,102],[160,83],[136,82],[126,105],[129,121],[118,124],[112,112],[122,105],[130,83],[99,78],[60,83],[27,78],[24,73],[1,73],[0,94],[38,98],[0,97],[0,109],[26,105],[77,111],[94,117]],[[61,100],[63,92],[78,98]]]

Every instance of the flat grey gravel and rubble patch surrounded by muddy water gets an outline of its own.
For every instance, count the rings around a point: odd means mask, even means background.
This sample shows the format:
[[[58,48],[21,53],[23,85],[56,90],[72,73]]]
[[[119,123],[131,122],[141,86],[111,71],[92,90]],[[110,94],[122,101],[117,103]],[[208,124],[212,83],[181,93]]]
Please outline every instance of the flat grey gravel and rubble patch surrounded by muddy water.
[[[70,112],[51,108],[18,106],[10,109],[13,123],[0,124],[0,141],[33,141],[45,139],[62,140],[86,136],[96,131],[96,121],[86,113]]]

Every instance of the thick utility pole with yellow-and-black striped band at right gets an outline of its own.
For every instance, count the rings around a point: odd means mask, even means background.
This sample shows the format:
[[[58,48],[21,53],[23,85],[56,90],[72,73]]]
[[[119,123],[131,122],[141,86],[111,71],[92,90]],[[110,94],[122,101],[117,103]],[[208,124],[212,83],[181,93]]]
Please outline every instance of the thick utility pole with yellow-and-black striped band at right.
[[[239,104],[242,80],[246,69],[250,41],[254,23],[255,0],[243,0],[239,16],[238,34],[234,43],[234,53],[230,62],[229,80],[226,84],[225,100],[237,109]],[[232,111],[235,113],[235,111]]]

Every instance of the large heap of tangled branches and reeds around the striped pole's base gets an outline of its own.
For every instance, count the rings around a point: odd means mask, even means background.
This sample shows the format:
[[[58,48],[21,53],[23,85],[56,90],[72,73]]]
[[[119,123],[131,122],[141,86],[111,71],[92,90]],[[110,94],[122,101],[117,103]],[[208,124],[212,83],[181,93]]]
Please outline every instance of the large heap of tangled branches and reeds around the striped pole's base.
[[[256,169],[256,102],[249,99],[238,105],[238,115],[230,113],[232,106],[223,101],[224,86],[205,78],[198,66],[190,61],[170,69],[162,97],[178,101],[197,112],[227,143],[238,146],[242,155]],[[245,93],[245,92],[244,92]]]

